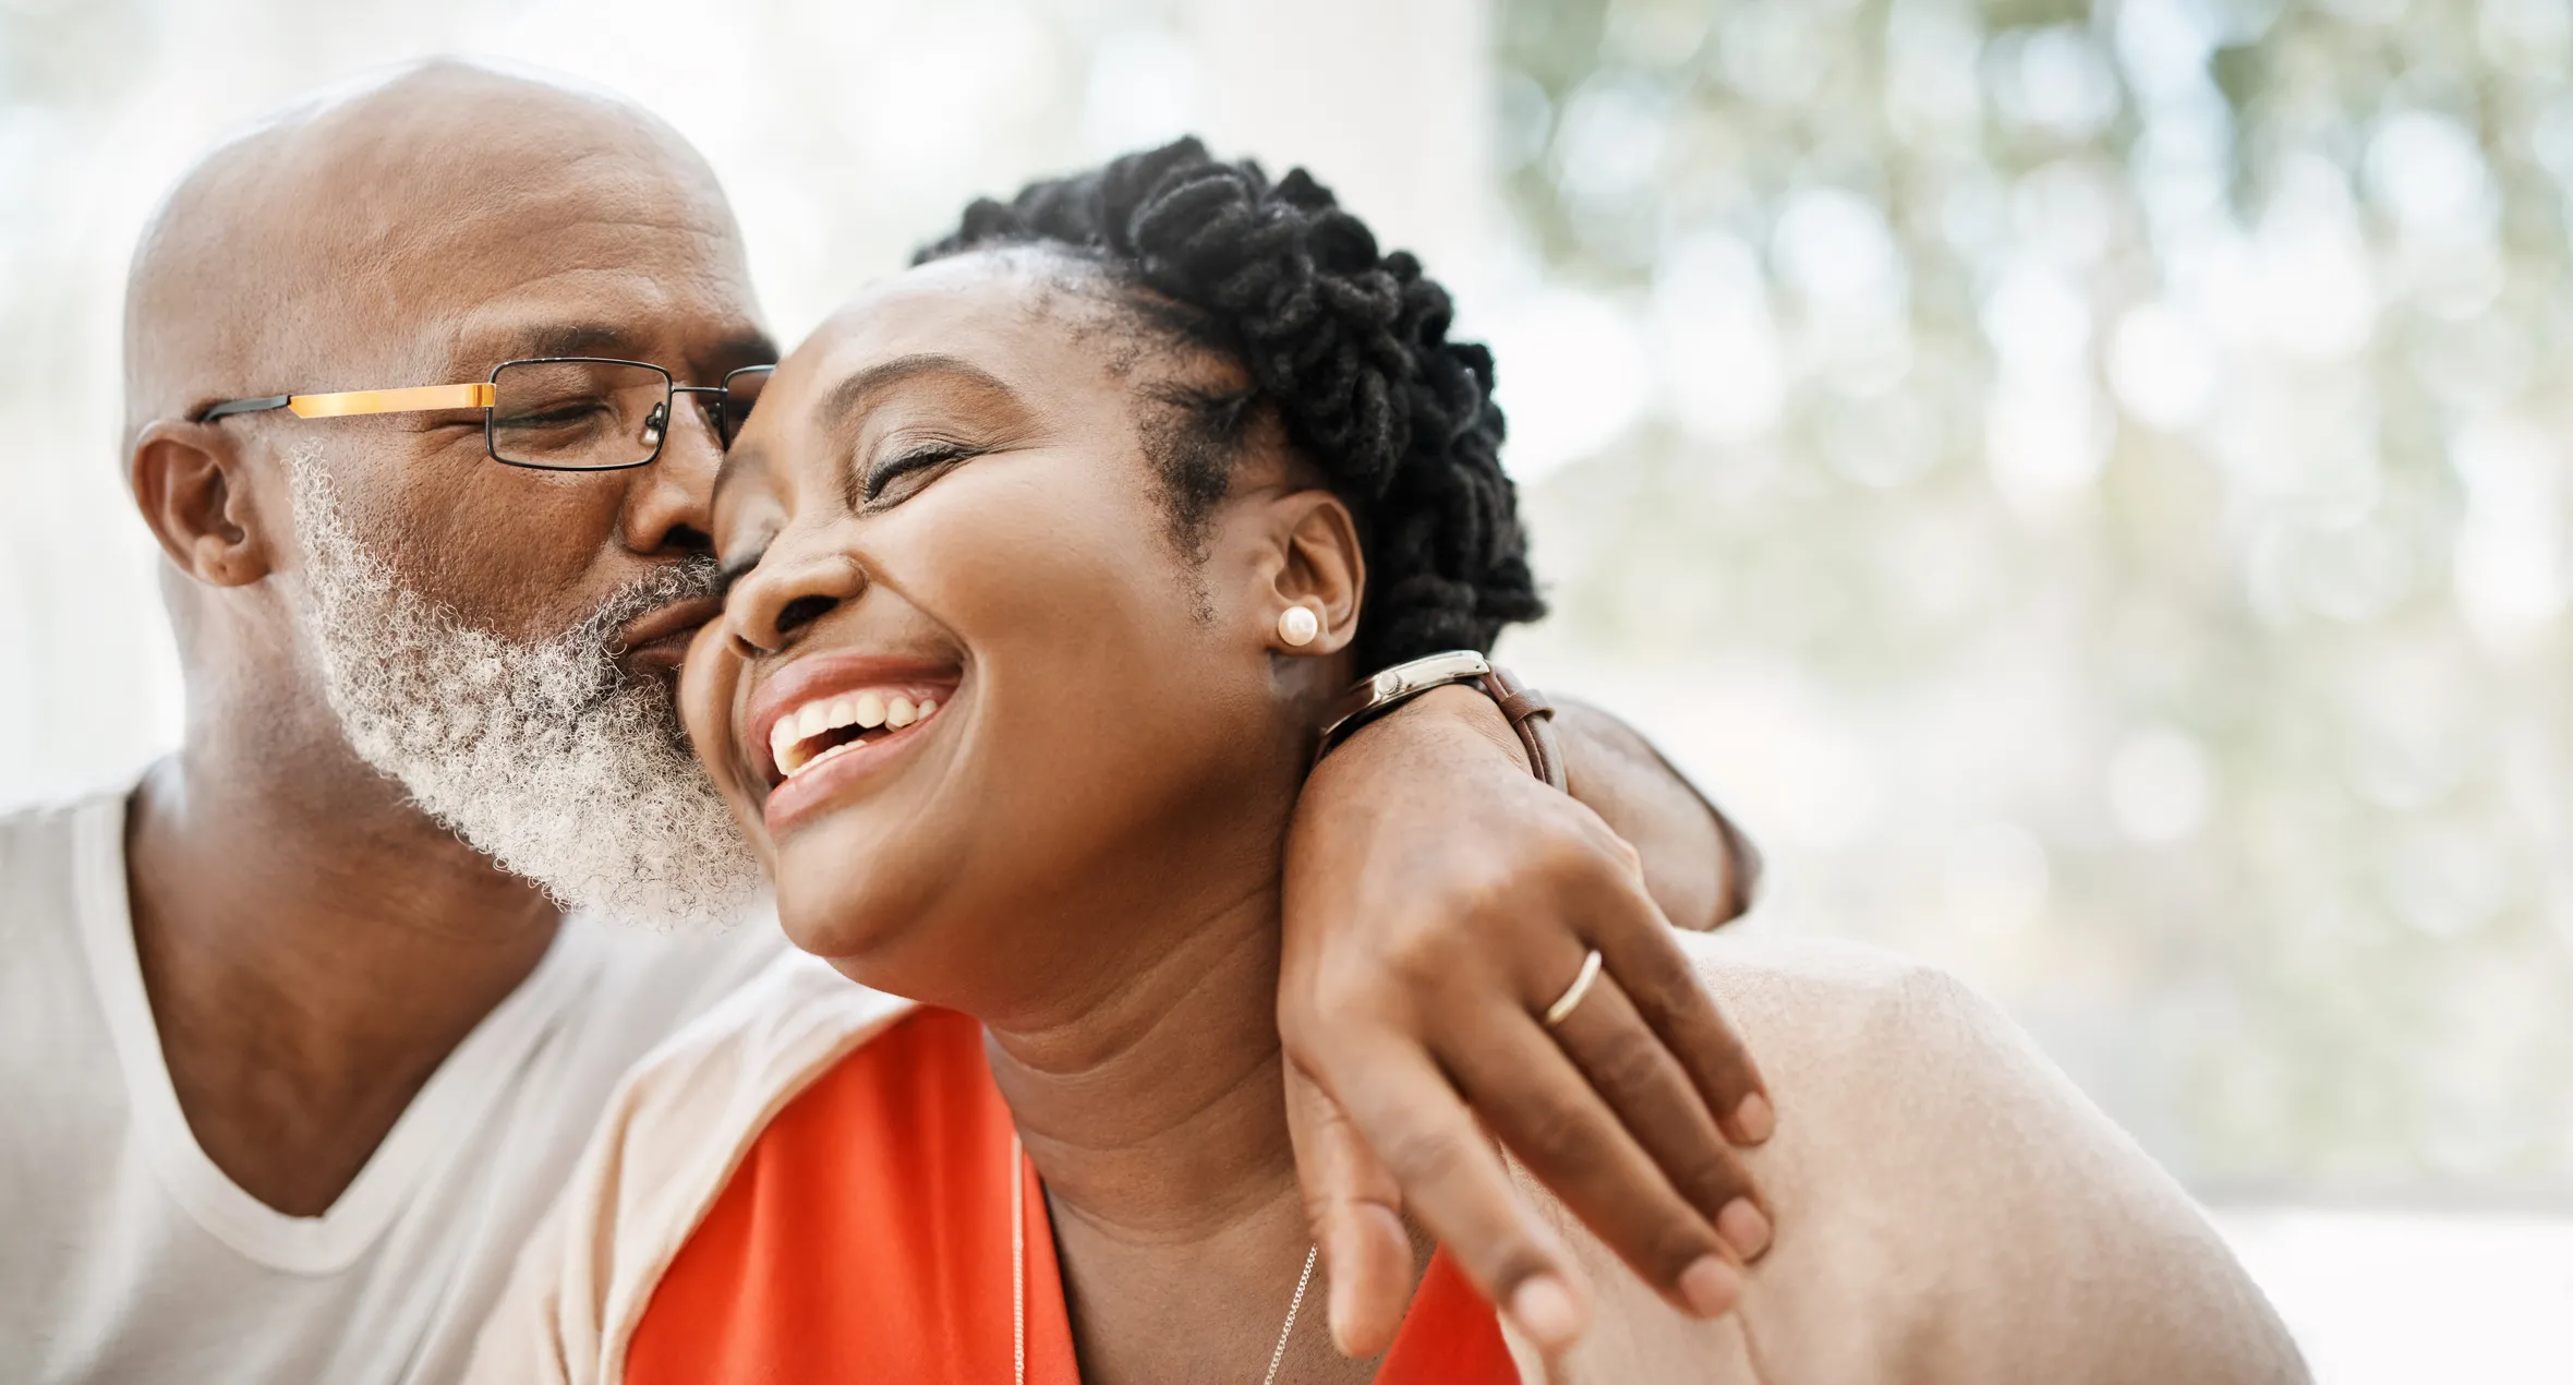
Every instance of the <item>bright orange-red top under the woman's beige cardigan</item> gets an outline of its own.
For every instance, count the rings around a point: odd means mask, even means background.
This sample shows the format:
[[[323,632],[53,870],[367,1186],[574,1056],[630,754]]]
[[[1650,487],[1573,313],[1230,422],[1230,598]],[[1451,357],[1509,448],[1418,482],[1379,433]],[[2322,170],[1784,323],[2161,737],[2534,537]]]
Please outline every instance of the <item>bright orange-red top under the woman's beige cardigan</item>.
[[[919,1009],[805,1086],[744,1153],[654,1287],[633,1385],[1009,1382],[1009,1107],[983,1027]],[[1063,1269],[1034,1166],[1027,1380],[1078,1385]],[[1243,1362],[1256,1380],[1266,1362]],[[1500,1323],[1431,1269],[1377,1385],[1518,1382]]]

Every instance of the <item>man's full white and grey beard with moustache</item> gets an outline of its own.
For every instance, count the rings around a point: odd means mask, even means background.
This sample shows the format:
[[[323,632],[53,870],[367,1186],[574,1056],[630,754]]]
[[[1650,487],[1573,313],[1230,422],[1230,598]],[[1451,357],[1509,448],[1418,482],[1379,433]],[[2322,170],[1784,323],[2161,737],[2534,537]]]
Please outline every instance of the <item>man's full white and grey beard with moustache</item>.
[[[713,592],[713,561],[512,644],[404,587],[350,528],[319,456],[296,453],[288,474],[322,690],[360,759],[566,909],[648,927],[741,916],[762,888],[749,842],[687,752],[669,690],[610,656],[636,615]]]

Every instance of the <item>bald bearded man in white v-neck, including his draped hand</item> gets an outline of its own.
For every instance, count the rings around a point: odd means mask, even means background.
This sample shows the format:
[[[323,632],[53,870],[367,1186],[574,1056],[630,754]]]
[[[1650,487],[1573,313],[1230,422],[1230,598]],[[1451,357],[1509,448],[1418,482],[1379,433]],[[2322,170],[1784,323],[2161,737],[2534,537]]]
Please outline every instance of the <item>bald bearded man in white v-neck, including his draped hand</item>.
[[[756,878],[669,700],[715,610],[708,484],[774,358],[713,172],[618,100],[427,64],[170,196],[126,438],[185,741],[0,819],[5,1375],[453,1377],[618,1074],[780,950],[705,927]],[[1660,1285],[1721,1249],[1726,1138],[1765,1138],[1662,937],[1739,911],[1732,832],[1603,718],[1567,716],[1567,757],[1588,808],[1441,690],[1299,811],[1286,976],[1338,983],[1281,1022],[1356,1349],[1407,1295],[1395,1205],[1531,1334],[1580,1328],[1474,1115],[1541,1133],[1536,1171]],[[1570,978],[1521,958],[1567,932],[1631,994],[1590,1009],[1606,1102],[1369,1086],[1534,1022]],[[1654,1071],[1703,1110],[1616,1084]]]

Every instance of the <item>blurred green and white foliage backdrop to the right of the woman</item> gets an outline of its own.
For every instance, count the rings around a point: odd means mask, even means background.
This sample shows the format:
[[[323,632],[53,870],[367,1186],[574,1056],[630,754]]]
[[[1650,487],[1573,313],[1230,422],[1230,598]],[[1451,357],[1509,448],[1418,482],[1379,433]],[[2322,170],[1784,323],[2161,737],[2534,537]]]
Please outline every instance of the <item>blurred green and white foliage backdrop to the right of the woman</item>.
[[[1773,911],[1961,965],[2202,1189],[2573,1189],[2568,8],[1497,51],[1518,229],[1654,373],[1531,487],[1536,649],[1683,690]]]

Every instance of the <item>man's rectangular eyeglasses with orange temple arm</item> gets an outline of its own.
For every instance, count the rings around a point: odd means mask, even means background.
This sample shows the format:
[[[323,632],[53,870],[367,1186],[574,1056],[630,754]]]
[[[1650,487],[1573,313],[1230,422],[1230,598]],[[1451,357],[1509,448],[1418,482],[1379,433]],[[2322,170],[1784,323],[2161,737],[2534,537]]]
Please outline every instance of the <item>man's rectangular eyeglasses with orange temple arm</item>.
[[[491,461],[538,471],[625,471],[661,456],[674,394],[713,394],[708,417],[715,438],[731,448],[774,368],[744,366],[723,376],[723,384],[677,384],[669,371],[643,360],[543,355],[502,360],[481,384],[224,399],[198,409],[190,422],[268,409],[286,409],[298,420],[481,409]]]

